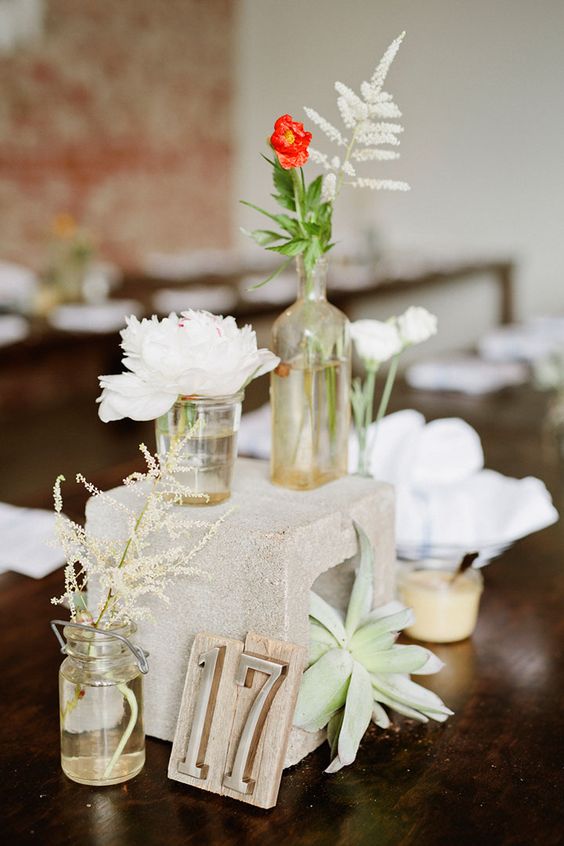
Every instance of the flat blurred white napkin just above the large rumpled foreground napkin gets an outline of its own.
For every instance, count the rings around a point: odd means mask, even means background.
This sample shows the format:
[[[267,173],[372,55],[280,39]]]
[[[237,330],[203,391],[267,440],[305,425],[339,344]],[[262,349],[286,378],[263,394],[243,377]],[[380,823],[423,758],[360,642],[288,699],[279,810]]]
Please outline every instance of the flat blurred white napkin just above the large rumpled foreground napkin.
[[[527,381],[527,368],[518,362],[484,361],[478,356],[449,356],[412,364],[405,372],[408,385],[424,391],[458,391],[476,396]]]

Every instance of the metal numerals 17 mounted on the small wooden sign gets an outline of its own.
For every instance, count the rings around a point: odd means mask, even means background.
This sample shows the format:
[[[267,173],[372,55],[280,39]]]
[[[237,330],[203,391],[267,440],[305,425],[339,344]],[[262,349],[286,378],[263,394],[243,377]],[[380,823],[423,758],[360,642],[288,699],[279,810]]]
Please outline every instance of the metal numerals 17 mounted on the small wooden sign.
[[[217,690],[223,672],[225,647],[216,646],[204,652],[198,661],[203,667],[202,682],[192,721],[192,731],[184,761],[179,763],[180,772],[195,778],[208,777],[208,765],[205,754],[213,722]],[[250,652],[243,652],[235,676],[235,683],[242,687],[251,687],[255,672],[265,673],[267,679],[257,692],[245,725],[239,738],[233,767],[230,773],[224,773],[223,785],[238,793],[252,793],[254,781],[251,779],[254,760],[264,723],[270,706],[284,681],[288,664],[272,658],[264,658]]]

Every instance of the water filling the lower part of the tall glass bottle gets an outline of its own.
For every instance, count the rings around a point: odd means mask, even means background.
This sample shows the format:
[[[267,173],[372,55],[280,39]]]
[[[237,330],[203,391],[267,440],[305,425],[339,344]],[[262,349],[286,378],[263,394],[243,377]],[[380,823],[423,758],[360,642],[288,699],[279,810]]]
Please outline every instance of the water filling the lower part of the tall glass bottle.
[[[272,481],[310,490],[348,470],[349,365],[290,364],[272,374]]]

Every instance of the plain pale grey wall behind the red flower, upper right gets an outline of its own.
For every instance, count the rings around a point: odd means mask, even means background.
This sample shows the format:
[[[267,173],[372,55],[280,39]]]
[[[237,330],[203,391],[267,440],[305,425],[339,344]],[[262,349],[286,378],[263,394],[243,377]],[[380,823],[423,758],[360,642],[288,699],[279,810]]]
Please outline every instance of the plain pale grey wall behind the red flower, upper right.
[[[518,261],[518,312],[562,310],[563,0],[240,0],[238,9],[237,197],[260,204],[270,193],[258,145],[274,119],[303,120],[309,105],[337,120],[334,81],[358,88],[405,29],[386,83],[404,114],[401,159],[379,172],[412,191],[343,194],[337,237],[358,243],[373,229],[392,248],[507,255]],[[479,298],[473,309],[477,319]]]

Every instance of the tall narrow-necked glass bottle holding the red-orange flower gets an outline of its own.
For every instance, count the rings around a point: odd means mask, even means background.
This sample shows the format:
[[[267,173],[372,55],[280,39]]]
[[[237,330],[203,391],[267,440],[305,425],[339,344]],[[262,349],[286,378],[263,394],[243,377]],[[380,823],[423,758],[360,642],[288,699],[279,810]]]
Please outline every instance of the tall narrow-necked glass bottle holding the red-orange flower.
[[[271,374],[271,477],[311,490],[348,471],[351,344],[349,321],[326,299],[327,260],[310,274],[297,260],[298,299],[276,320]]]

